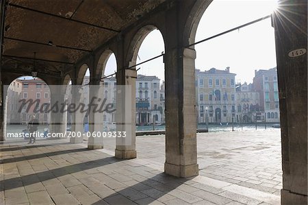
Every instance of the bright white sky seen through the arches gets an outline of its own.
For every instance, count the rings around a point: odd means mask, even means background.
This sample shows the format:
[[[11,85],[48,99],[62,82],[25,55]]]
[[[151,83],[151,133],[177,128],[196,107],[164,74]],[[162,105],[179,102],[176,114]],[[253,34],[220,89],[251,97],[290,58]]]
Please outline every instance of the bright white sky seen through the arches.
[[[214,36],[227,29],[254,21],[271,14],[277,0],[214,0],[198,25],[196,42]],[[196,69],[201,71],[211,68],[230,67],[236,73],[236,82],[253,82],[255,69],[276,67],[274,28],[270,19],[249,25],[240,30],[219,36],[195,46]],[[138,52],[138,62],[158,56],[164,51],[164,40],[159,30],[151,32],[142,43]],[[140,65],[138,74],[156,75],[164,80],[164,63],[162,58]],[[116,58],[112,54],[107,61],[105,75],[116,71]]]

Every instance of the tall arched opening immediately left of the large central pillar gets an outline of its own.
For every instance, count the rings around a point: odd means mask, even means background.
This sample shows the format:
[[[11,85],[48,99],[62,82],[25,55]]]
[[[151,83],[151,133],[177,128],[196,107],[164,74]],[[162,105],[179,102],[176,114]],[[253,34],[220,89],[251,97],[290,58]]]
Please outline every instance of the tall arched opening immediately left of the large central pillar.
[[[164,52],[164,38],[159,29],[152,25],[140,29],[133,42],[136,45],[132,64],[139,64]],[[136,69],[136,130],[164,130],[164,62],[162,58],[157,58]]]

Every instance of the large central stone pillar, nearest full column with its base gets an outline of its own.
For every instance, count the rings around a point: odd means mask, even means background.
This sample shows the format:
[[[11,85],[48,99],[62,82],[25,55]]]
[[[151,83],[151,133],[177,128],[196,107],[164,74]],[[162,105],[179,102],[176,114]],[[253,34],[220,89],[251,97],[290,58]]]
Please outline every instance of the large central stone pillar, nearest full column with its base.
[[[165,172],[177,177],[198,175],[194,49],[170,49],[166,67]]]

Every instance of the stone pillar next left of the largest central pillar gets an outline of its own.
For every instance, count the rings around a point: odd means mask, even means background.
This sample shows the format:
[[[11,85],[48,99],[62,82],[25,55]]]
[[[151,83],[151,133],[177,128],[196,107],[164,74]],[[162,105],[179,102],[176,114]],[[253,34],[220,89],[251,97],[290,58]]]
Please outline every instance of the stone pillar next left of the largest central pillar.
[[[116,138],[116,158],[136,158],[136,77],[137,71],[123,69],[116,73],[116,131],[126,132],[125,138]]]

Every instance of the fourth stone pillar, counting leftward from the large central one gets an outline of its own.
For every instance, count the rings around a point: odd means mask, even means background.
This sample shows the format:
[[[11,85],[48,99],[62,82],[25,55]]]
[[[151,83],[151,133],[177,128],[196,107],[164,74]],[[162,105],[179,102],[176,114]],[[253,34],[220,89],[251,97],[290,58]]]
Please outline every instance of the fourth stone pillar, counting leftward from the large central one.
[[[81,86],[72,86],[72,104],[78,106],[80,103],[84,103],[84,95],[81,90]],[[70,137],[70,143],[82,143],[84,141],[84,114],[77,110],[72,112],[72,134],[75,137]],[[79,136],[81,133],[81,136]]]

